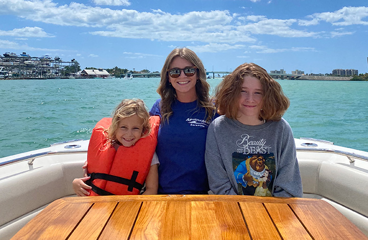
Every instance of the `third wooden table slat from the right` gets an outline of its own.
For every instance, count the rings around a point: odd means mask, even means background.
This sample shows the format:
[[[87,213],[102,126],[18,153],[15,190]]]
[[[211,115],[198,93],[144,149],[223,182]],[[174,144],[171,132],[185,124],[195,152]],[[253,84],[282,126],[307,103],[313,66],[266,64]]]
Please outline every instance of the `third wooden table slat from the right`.
[[[239,203],[253,239],[281,239],[262,203]]]

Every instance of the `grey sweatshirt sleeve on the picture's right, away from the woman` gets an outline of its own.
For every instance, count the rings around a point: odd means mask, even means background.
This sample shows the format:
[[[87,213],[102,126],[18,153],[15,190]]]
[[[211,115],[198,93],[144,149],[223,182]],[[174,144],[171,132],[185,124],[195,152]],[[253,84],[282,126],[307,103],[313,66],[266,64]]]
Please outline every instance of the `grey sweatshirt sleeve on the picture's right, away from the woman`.
[[[283,136],[279,169],[274,182],[273,196],[303,197],[302,178],[296,159],[295,141],[287,124]]]

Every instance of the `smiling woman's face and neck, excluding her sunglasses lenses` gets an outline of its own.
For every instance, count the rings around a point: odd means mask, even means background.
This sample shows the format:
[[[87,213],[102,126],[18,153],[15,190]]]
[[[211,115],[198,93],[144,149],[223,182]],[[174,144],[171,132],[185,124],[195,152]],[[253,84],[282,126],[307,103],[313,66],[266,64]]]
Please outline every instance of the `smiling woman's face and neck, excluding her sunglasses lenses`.
[[[183,69],[187,67],[193,67],[194,65],[181,57],[175,57],[170,66],[169,70],[177,68]],[[197,83],[197,71],[193,76],[187,77],[183,70],[180,70],[180,76],[172,78],[169,74],[169,82],[175,88],[177,100],[183,103],[193,102],[197,99],[197,93],[195,85]]]

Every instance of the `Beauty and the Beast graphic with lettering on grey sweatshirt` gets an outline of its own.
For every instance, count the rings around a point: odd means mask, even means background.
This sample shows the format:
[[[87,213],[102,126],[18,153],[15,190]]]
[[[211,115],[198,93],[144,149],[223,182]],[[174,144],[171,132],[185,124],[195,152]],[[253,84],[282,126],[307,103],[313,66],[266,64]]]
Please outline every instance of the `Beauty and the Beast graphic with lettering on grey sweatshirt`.
[[[239,195],[271,197],[275,176],[274,154],[266,140],[250,141],[243,134],[237,141],[238,151],[233,153],[234,176]]]

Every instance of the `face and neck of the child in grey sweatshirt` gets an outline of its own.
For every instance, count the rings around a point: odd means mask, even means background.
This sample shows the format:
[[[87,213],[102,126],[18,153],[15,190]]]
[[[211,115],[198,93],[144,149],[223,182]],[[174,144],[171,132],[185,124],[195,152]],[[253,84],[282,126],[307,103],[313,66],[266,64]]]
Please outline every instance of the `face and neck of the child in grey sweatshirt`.
[[[262,108],[263,88],[261,81],[253,76],[245,76],[238,102],[237,120],[245,125],[261,125],[259,114]]]

